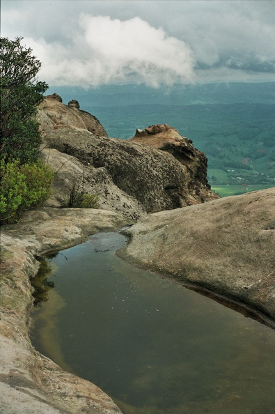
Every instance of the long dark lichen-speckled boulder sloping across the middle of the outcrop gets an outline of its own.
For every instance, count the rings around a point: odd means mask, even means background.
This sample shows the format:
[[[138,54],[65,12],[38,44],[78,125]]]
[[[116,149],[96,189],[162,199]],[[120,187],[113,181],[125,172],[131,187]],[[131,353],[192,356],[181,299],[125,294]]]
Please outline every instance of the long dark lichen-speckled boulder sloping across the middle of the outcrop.
[[[101,169],[98,176],[102,176],[104,169],[105,176],[113,185],[111,194],[116,201],[113,208],[117,204],[124,204],[120,199],[123,192],[125,197],[129,197],[129,201],[125,201],[125,212],[131,210],[131,215],[135,214],[136,217],[140,216],[141,211],[152,213],[219,197],[206,184],[198,183],[196,171],[191,176],[191,167],[181,164],[166,151],[123,139],[98,137],[69,126],[52,130],[44,140],[47,147],[77,158],[86,167]],[[98,183],[95,169],[85,174],[85,183],[90,185],[89,192],[96,192],[93,189],[93,185]],[[114,186],[118,188],[117,197]],[[105,189],[104,197],[110,206],[108,188]]]

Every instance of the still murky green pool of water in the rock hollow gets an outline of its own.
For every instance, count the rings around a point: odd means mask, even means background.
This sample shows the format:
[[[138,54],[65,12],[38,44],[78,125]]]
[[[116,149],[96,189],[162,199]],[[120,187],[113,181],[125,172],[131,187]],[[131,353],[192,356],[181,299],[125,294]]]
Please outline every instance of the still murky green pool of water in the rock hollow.
[[[274,414],[275,331],[119,259],[97,233],[48,259],[33,344],[125,414]]]

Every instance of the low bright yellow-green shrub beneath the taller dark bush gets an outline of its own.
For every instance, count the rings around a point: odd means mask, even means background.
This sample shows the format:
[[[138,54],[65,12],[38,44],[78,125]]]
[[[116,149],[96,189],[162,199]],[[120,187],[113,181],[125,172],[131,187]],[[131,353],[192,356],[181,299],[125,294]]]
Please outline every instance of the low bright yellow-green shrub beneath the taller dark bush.
[[[19,160],[1,160],[0,173],[1,224],[15,222],[22,211],[42,204],[50,195],[54,172],[40,160],[23,165]]]

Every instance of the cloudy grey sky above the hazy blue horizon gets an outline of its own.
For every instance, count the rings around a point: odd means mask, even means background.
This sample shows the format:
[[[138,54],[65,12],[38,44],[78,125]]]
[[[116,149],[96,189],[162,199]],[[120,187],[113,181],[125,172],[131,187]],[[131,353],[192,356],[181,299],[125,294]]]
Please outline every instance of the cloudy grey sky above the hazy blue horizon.
[[[1,0],[50,86],[275,80],[275,1]]]

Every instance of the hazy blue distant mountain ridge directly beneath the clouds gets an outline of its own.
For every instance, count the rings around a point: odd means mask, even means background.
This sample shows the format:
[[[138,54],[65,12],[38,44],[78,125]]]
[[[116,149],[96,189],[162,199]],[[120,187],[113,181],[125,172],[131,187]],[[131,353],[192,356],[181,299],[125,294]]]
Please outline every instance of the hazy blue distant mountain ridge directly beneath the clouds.
[[[173,105],[204,105],[206,103],[275,103],[275,82],[228,84],[196,84],[163,86],[159,89],[144,85],[103,85],[97,88],[83,89],[74,86],[54,86],[49,93],[60,91],[63,100],[72,99],[72,94],[82,105],[88,103],[96,106],[133,105],[133,103],[160,103],[164,98],[166,103]]]

